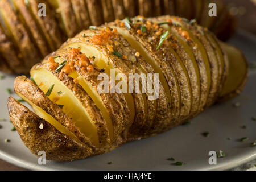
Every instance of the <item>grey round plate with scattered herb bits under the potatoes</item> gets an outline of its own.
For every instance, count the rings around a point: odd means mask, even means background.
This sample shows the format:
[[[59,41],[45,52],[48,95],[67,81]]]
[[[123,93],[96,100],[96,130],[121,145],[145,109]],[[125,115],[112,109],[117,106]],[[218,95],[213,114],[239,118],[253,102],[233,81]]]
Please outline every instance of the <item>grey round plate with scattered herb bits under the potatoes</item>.
[[[231,43],[241,48],[248,61],[256,59],[256,39],[240,31]],[[8,118],[6,88],[13,88],[15,76],[6,76],[0,80],[0,118]],[[250,143],[256,140],[256,72],[250,71],[245,91],[232,101],[216,104],[192,120],[191,125],[176,127],[155,137],[127,143],[108,154],[93,156],[74,162],[52,162],[40,166],[38,158],[24,146],[9,119],[0,122],[0,158],[27,169],[66,169],[66,170],[213,170],[230,169],[256,158],[256,147]],[[15,96],[18,98],[18,96]],[[240,102],[241,107],[234,108],[233,103]],[[241,126],[246,125],[246,129]],[[209,137],[202,132],[209,131]],[[227,138],[231,137],[232,140]],[[248,137],[245,142],[237,139]],[[10,139],[10,143],[4,140]],[[208,163],[209,151],[222,150],[225,158],[218,158],[217,165]],[[184,162],[183,166],[174,166],[167,158]],[[108,162],[113,162],[111,165]]]

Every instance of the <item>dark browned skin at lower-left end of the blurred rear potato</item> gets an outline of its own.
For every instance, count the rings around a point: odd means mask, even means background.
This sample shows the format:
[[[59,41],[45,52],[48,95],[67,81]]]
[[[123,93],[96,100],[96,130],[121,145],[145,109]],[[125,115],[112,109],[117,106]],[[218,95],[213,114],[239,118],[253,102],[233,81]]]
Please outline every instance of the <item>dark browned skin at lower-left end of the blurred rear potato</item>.
[[[22,61],[19,60],[18,53],[15,50],[13,42],[10,38],[7,37],[5,32],[0,26],[0,53],[1,53],[1,63],[0,69],[5,72],[16,72],[26,74],[28,73],[27,69],[24,67]],[[7,69],[7,67],[9,67]]]

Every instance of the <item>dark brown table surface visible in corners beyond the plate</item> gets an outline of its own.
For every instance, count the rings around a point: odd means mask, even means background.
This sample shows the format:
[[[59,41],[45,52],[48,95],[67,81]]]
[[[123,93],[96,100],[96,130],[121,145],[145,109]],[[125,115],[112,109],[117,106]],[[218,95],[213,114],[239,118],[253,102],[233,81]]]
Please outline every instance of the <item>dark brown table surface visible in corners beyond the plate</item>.
[[[238,27],[256,35],[256,0],[224,0],[238,18]],[[0,171],[24,170],[0,159]]]

